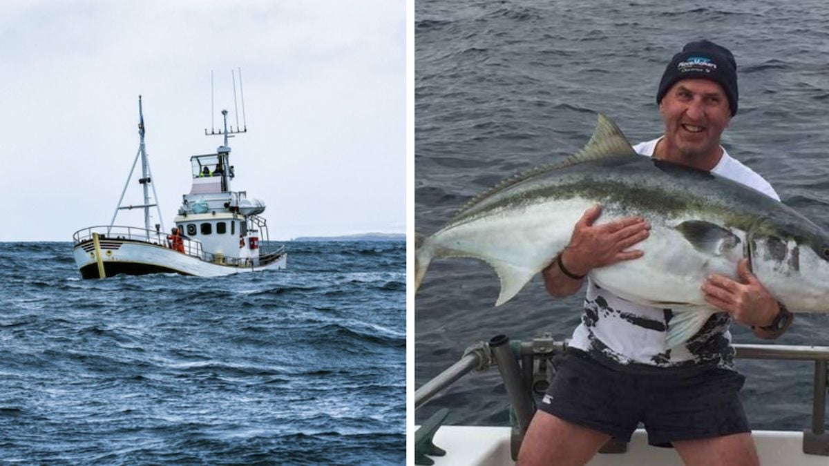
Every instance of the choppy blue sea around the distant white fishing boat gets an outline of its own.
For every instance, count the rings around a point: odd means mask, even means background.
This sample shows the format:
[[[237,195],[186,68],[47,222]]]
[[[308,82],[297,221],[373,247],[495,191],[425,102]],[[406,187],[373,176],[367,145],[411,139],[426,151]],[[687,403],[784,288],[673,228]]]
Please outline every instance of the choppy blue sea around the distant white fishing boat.
[[[0,463],[402,464],[405,243],[288,269],[82,280],[0,243]]]

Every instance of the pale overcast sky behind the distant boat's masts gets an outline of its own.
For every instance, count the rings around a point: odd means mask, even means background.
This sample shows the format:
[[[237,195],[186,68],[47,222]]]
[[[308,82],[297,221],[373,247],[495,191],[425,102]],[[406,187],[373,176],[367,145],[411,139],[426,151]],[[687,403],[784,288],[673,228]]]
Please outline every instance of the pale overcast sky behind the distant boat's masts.
[[[0,43],[0,241],[109,224],[138,95],[169,229],[189,158],[221,144],[204,135],[211,70],[216,126],[226,108],[235,127],[236,68],[248,133],[230,139],[233,190],[265,201],[271,239],[405,232],[403,0],[4,1]],[[141,201],[137,177],[126,201]],[[143,225],[129,213],[116,224]]]

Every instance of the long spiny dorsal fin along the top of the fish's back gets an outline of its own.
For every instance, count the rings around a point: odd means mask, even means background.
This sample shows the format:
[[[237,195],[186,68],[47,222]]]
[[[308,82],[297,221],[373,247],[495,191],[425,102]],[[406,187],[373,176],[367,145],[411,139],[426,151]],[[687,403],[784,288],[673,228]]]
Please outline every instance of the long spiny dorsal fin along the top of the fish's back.
[[[490,197],[497,192],[501,192],[508,187],[513,187],[516,184],[524,182],[541,173],[551,172],[564,167],[570,167],[571,165],[587,162],[589,160],[628,157],[631,155],[638,154],[633,150],[633,147],[628,142],[628,138],[624,137],[622,130],[618,129],[618,126],[613,123],[612,119],[609,119],[604,114],[599,114],[599,120],[596,122],[596,129],[594,129],[593,135],[590,136],[589,141],[584,148],[579,151],[579,153],[571,155],[563,162],[550,163],[542,165],[541,167],[535,167],[523,172],[518,172],[515,176],[499,182],[494,187],[487,189],[487,191],[482,192],[478,196],[467,201],[460,208],[460,210],[458,210],[455,217],[463,215],[464,212],[473,208],[473,206],[478,204],[478,202],[483,201],[487,197]]]

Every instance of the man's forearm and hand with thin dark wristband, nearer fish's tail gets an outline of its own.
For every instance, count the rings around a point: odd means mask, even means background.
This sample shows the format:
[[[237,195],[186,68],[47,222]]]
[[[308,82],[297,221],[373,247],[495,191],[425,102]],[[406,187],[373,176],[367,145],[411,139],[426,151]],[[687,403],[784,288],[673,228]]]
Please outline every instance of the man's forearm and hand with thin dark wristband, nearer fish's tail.
[[[626,249],[647,238],[651,228],[647,221],[628,217],[594,226],[601,213],[598,205],[585,211],[574,226],[570,243],[541,271],[547,293],[559,298],[570,296],[579,291],[590,270],[642,257],[641,250]]]

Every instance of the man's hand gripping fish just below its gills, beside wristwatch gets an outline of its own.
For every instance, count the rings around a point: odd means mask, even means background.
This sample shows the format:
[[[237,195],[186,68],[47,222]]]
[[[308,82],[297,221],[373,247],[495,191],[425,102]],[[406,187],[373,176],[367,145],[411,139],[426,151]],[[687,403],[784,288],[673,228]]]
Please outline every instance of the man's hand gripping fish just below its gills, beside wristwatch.
[[[739,281],[710,275],[702,284],[705,302],[730,313],[739,323],[756,327],[771,325],[780,312],[777,299],[751,273],[749,260],[739,261],[737,275]]]

